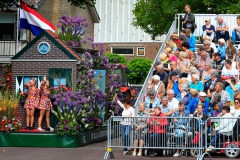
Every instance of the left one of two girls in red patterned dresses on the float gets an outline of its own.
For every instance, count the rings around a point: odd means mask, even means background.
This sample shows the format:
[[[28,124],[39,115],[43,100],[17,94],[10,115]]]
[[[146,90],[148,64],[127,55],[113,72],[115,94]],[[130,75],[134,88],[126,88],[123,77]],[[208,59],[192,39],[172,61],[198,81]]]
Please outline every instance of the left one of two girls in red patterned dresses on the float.
[[[31,78],[29,82],[24,85],[28,89],[28,97],[25,101],[24,108],[26,108],[26,130],[33,130],[34,111],[39,105],[39,92],[36,86],[36,79]]]

